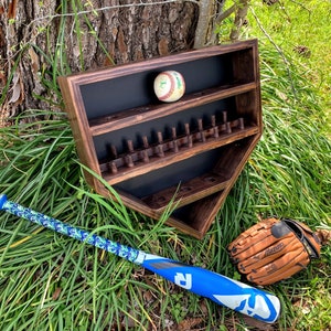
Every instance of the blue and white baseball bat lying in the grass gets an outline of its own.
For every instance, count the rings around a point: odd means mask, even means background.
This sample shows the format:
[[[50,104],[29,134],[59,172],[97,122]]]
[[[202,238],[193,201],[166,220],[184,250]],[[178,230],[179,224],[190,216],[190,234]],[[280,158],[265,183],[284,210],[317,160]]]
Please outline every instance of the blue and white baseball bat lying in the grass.
[[[9,201],[4,194],[0,195],[0,210],[105,249],[134,264],[142,266],[195,295],[209,298],[221,306],[225,306],[260,321],[273,323],[279,316],[279,299],[264,290],[201,267],[194,267],[173,259],[148,254],[90,234],[89,232]]]

